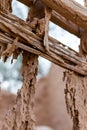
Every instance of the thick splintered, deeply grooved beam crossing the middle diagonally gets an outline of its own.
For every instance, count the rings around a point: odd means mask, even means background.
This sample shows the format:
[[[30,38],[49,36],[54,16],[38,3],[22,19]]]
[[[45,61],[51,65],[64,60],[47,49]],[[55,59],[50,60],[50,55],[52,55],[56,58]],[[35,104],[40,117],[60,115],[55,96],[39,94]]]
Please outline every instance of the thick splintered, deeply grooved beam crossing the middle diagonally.
[[[31,28],[17,17],[0,12],[0,43],[12,44],[16,37],[19,41],[16,44],[23,50],[30,51],[40,55],[53,63],[77,72],[81,75],[87,75],[87,68],[83,69],[87,62],[79,57],[79,54],[72,49],[66,49],[66,46],[59,41],[49,37],[49,49],[46,51],[43,41],[40,37],[32,33]],[[11,41],[12,40],[12,41]]]

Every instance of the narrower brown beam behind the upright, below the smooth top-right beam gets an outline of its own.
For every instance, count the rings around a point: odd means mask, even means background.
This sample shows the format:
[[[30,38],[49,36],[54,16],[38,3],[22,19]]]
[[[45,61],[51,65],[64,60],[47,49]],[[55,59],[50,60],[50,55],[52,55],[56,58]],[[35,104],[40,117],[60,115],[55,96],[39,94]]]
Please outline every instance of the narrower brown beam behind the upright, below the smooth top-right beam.
[[[30,7],[32,5],[32,0],[27,1],[27,0],[18,0],[21,3],[27,5]],[[81,37],[81,32],[83,31],[82,28],[71,22],[70,20],[67,20],[63,16],[61,16],[59,13],[55,12],[54,10],[52,11],[52,17],[51,21],[55,23],[56,25],[62,27],[63,29],[67,30],[68,32],[76,35],[77,37]]]

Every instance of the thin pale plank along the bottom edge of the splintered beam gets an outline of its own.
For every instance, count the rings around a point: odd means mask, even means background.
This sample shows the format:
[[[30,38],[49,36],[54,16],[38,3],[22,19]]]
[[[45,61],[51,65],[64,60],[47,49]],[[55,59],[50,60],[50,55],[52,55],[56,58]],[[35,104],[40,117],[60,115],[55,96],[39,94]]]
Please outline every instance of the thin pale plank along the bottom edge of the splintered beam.
[[[8,38],[6,35],[3,35],[3,34],[0,33],[0,43],[2,43],[2,44],[12,44],[13,41],[14,41],[14,39]],[[81,75],[87,75],[87,72],[85,70],[82,70],[82,67],[77,67],[77,66],[74,66],[70,63],[65,62],[63,57],[61,57],[60,54],[57,55],[57,57],[55,58],[55,56],[53,55],[52,52],[50,52],[50,54],[49,54],[46,51],[43,52],[42,50],[36,49],[35,47],[31,47],[29,45],[25,45],[24,43],[21,43],[21,42],[17,43],[17,47],[19,47],[23,50],[26,50],[28,52],[31,52],[33,54],[37,54],[39,56],[42,56],[42,57],[50,60],[51,62],[65,68],[65,69],[72,70],[72,71],[79,73]]]

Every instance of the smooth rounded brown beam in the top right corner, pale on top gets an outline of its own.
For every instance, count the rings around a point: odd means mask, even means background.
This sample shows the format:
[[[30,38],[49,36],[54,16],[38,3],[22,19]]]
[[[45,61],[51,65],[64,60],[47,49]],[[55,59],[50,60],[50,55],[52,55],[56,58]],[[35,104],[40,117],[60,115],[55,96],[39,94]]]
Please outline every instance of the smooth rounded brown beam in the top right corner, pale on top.
[[[42,0],[67,20],[87,30],[87,9],[74,0]]]

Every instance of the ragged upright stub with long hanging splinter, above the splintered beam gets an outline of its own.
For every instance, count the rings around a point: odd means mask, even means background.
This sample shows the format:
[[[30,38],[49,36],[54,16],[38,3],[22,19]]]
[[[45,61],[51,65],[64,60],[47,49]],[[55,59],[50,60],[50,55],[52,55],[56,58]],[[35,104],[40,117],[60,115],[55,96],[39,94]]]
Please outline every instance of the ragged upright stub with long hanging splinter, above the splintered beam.
[[[47,7],[41,0],[32,1],[33,3],[30,6],[29,18],[27,21],[32,27],[32,31],[39,37],[43,38],[44,47],[47,51],[49,51],[48,31],[52,10]]]

